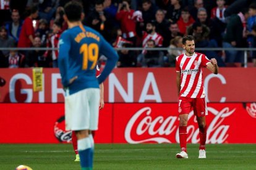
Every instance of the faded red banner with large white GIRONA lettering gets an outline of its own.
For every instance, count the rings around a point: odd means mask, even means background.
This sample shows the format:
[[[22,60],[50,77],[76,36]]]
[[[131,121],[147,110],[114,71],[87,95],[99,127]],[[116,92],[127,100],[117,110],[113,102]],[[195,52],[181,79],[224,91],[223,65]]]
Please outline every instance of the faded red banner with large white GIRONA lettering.
[[[255,102],[256,68],[220,68],[218,75],[204,70],[208,102]],[[33,92],[32,69],[0,69],[6,85],[0,102],[64,102],[59,70],[43,68],[43,91]],[[105,81],[105,100],[110,103],[177,102],[174,68],[117,68]]]

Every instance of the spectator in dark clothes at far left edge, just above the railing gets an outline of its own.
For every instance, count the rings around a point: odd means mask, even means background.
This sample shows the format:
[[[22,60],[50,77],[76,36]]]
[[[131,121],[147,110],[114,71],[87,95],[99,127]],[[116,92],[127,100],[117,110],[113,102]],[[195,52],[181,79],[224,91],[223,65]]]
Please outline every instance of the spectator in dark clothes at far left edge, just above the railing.
[[[0,27],[0,47],[14,47],[15,40],[7,34],[7,30],[5,26]],[[10,51],[2,51],[4,56],[9,55]]]

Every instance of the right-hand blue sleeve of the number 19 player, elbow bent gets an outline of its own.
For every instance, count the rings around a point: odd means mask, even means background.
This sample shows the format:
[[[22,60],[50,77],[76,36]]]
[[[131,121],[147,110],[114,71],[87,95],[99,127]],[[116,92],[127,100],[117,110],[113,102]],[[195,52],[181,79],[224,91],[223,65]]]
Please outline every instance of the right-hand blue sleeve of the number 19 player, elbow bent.
[[[108,59],[105,65],[105,68],[103,69],[101,75],[98,77],[98,83],[101,84],[105,79],[108,77],[108,75],[111,73],[114,67],[116,67],[116,62],[118,60],[117,52],[114,50],[114,48],[103,38],[103,36],[100,36],[101,44],[100,44],[100,52],[101,54],[105,55],[105,57]]]

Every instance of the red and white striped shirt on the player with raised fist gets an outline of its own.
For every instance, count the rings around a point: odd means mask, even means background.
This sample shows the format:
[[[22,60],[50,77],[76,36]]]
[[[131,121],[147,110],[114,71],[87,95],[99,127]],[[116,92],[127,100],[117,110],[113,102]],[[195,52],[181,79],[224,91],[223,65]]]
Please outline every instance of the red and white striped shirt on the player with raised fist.
[[[176,72],[181,72],[181,97],[203,98],[205,89],[202,80],[202,68],[207,67],[210,60],[195,52],[192,56],[186,54],[176,57]]]

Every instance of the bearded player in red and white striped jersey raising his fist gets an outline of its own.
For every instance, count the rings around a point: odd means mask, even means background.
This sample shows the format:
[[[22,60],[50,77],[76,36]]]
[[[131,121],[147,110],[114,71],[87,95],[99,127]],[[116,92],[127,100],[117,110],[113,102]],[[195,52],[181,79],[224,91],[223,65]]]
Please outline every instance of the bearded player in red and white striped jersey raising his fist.
[[[202,68],[207,67],[215,75],[219,68],[216,59],[209,60],[204,54],[195,52],[195,40],[193,36],[184,36],[182,39],[185,54],[176,57],[176,82],[179,96],[179,142],[181,152],[176,158],[189,158],[187,155],[187,120],[189,112],[193,108],[197,117],[199,128],[200,147],[198,158],[206,158],[205,142],[207,139],[208,115],[205,102],[205,90],[203,87]]]

